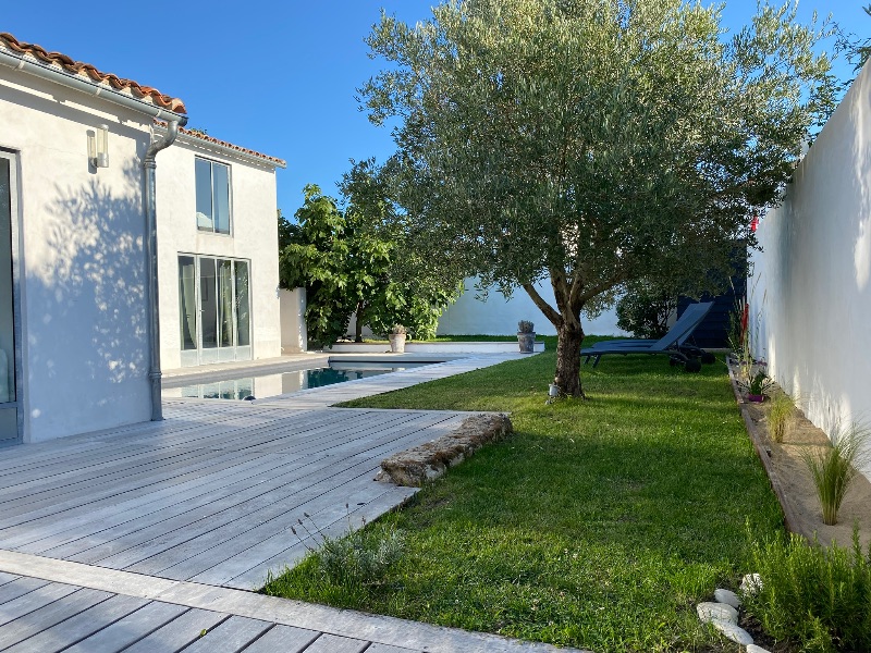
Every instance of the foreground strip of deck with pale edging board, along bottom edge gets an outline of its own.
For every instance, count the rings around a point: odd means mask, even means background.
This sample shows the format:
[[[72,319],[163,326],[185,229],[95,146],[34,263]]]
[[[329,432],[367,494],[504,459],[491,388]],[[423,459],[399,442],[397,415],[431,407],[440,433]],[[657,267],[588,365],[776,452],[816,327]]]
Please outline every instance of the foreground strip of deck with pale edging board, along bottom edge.
[[[569,653],[548,644],[0,550],[0,650]]]

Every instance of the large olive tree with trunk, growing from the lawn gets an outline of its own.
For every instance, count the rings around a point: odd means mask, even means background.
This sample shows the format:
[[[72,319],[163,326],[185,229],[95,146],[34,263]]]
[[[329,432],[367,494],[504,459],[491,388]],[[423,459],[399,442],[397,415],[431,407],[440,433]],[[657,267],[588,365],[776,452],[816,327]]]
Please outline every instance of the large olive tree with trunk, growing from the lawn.
[[[419,246],[530,295],[567,395],[584,396],[581,311],[642,278],[715,291],[831,109],[823,34],[795,5],[721,32],[719,7],[678,0],[466,0],[415,26],[382,14],[368,38],[389,65],[361,101],[395,121]]]

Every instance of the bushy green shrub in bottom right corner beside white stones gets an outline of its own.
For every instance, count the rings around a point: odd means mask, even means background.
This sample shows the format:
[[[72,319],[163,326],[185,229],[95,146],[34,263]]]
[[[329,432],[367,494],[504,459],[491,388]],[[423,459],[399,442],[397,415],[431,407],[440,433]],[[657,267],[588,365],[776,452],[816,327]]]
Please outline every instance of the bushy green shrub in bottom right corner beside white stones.
[[[858,527],[851,550],[790,534],[751,552],[762,583],[744,602],[765,632],[809,653],[871,651],[871,546],[863,555]]]

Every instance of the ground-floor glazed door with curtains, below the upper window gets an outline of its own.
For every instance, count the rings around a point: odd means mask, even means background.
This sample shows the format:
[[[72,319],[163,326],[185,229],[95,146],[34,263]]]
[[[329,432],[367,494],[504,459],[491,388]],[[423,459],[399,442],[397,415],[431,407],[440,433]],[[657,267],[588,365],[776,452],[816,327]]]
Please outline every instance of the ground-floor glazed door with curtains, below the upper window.
[[[182,366],[250,360],[248,261],[179,257]]]

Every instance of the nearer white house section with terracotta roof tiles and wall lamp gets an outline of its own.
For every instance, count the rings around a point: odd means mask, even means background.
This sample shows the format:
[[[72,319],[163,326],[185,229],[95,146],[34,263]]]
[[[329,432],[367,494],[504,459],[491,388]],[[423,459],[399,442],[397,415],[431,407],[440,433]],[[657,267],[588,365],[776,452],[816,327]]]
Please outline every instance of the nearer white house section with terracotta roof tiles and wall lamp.
[[[0,442],[152,416],[144,162],[155,119],[184,114],[0,34]]]

